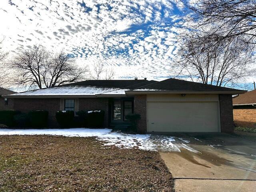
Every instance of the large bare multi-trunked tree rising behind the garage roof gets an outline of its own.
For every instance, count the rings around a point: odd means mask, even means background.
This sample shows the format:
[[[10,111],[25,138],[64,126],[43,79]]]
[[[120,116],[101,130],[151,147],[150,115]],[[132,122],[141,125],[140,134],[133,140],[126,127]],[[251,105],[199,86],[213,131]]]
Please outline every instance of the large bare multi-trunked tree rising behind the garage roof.
[[[181,44],[172,74],[176,77],[218,86],[234,86],[252,75],[252,55],[246,54],[244,44],[222,41],[201,44],[198,38],[188,37]]]

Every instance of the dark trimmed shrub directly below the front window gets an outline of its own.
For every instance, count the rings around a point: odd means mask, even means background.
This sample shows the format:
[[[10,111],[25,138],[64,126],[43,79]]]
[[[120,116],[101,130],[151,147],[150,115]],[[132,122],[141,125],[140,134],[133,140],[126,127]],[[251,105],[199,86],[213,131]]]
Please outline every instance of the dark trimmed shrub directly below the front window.
[[[74,126],[74,111],[57,111],[56,119],[61,127]]]

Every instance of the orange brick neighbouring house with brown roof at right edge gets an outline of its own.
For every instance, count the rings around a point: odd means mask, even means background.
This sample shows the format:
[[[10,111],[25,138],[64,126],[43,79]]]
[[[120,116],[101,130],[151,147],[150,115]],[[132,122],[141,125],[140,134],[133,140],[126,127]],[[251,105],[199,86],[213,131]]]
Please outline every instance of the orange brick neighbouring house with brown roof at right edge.
[[[235,126],[256,128],[256,90],[233,98]]]

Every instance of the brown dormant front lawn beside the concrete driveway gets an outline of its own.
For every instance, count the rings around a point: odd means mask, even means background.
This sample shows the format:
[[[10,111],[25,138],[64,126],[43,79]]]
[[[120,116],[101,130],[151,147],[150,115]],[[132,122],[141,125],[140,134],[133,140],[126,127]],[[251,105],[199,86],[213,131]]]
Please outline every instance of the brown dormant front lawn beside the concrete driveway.
[[[172,192],[158,152],[105,148],[95,138],[0,136],[1,192]]]

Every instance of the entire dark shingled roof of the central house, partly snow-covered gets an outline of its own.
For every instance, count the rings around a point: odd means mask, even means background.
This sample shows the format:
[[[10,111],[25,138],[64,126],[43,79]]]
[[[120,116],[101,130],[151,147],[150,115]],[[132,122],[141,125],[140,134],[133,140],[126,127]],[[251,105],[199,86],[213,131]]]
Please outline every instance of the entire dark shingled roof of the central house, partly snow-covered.
[[[33,97],[108,97],[126,96],[127,94],[163,94],[163,93],[200,93],[200,94],[240,94],[244,90],[224,88],[201,83],[189,82],[178,79],[164,81],[148,80],[87,80],[32,90],[22,93],[10,94],[5,97],[33,98]]]

